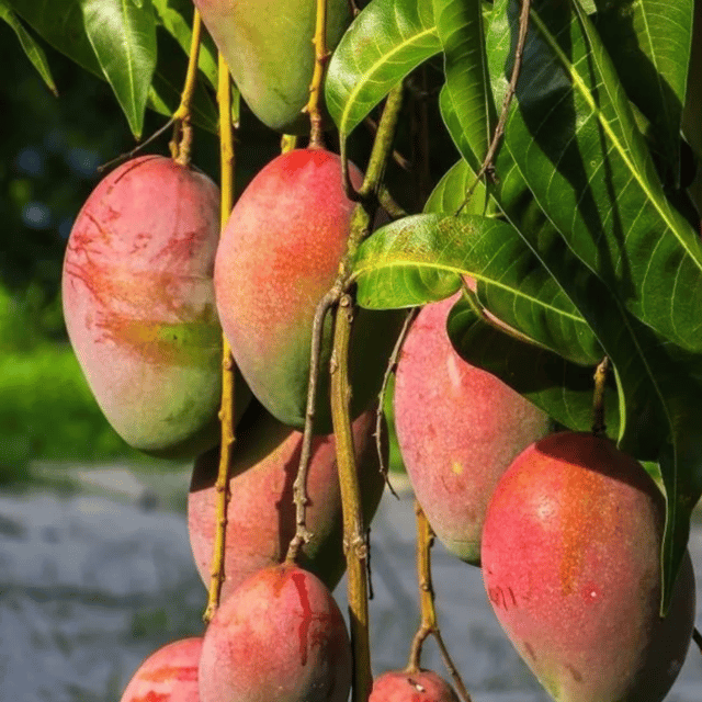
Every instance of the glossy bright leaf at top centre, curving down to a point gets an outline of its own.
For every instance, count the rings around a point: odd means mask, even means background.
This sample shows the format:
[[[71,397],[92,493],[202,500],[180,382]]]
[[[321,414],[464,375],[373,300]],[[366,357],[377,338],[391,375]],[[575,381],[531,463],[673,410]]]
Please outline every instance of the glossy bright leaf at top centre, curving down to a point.
[[[329,63],[327,109],[342,141],[414,68],[441,50],[432,0],[372,0]]]

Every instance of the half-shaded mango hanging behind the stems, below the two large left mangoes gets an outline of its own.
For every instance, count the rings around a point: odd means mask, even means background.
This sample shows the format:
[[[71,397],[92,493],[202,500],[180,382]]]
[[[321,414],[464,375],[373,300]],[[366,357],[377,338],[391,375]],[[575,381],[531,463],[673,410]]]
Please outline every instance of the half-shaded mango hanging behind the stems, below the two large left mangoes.
[[[247,416],[248,418],[249,416]],[[242,420],[230,462],[229,508],[225,536],[225,576],[222,597],[229,595],[260,568],[282,563],[295,534],[293,483],[297,476],[302,433],[268,412]],[[361,486],[364,523],[369,525],[383,495],[373,432],[375,412],[353,422],[353,443]],[[342,551],[341,492],[333,434],[313,439],[307,476],[307,528],[310,541],[298,563],[332,590],[346,570]],[[216,524],[214,487],[219,451],[213,449],[195,462],[188,497],[190,544],[197,571],[210,586]]]

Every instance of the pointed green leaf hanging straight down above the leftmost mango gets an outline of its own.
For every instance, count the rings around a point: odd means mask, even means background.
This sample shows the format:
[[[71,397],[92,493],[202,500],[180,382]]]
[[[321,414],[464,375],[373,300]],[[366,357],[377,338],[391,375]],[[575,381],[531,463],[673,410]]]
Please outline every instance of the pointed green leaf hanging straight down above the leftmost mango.
[[[86,33],[129,128],[140,138],[156,68],[156,19],[150,0],[80,0]]]

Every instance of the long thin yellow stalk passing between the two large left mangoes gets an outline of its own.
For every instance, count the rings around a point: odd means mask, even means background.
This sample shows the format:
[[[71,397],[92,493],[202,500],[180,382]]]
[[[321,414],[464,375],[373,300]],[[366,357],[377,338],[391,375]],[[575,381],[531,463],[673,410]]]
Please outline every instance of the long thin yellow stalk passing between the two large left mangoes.
[[[219,105],[219,156],[222,178],[222,228],[224,228],[234,205],[234,134],[231,129],[231,79],[227,63],[219,54],[219,82],[217,103]],[[229,461],[234,445],[234,359],[227,338],[222,335],[222,443],[219,449],[219,469],[215,489],[217,492],[217,530],[212,556],[212,571],[208,588],[207,608],[203,619],[210,622],[219,605],[222,582],[224,580],[225,533],[227,528],[227,495],[229,486]]]

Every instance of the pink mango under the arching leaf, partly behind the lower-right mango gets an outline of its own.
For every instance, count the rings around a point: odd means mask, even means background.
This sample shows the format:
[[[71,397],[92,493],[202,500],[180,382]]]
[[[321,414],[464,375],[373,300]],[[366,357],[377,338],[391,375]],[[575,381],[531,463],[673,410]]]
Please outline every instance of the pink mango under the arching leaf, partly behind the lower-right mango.
[[[551,420],[454,351],[446,318],[456,298],[426,305],[405,339],[395,429],[431,528],[451,553],[478,565],[492,490],[520,451],[548,432]]]

